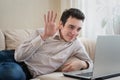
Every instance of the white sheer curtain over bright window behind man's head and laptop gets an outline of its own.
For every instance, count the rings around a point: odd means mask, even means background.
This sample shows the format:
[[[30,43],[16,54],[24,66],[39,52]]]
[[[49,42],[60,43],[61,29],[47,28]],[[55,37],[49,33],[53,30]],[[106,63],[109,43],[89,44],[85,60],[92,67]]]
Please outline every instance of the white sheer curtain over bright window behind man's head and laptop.
[[[61,12],[74,7],[86,16],[82,36],[120,34],[120,0],[61,0]]]

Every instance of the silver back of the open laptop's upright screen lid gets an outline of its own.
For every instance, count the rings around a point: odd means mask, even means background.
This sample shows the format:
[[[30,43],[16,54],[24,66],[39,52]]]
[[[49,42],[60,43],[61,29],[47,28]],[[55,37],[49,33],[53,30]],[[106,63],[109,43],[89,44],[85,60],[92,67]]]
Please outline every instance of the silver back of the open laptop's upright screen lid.
[[[93,78],[120,73],[120,36],[98,36]]]

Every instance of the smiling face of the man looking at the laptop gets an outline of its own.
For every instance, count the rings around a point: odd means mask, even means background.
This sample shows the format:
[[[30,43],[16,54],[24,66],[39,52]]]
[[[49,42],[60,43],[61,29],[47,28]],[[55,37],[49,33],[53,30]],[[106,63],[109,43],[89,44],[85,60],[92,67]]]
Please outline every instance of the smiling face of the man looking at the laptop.
[[[80,32],[82,24],[83,24],[82,20],[69,17],[64,26],[62,23],[60,24],[61,38],[67,42],[74,40]]]

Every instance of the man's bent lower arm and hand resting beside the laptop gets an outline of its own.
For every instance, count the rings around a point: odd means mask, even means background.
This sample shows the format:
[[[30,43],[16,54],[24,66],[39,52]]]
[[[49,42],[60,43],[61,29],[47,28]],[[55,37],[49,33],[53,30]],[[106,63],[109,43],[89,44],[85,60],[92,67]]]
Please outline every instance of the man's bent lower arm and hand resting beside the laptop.
[[[69,72],[75,70],[88,69],[93,67],[93,62],[85,50],[83,44],[77,43],[78,47],[67,62],[62,66],[61,71]],[[74,59],[73,59],[74,58]]]

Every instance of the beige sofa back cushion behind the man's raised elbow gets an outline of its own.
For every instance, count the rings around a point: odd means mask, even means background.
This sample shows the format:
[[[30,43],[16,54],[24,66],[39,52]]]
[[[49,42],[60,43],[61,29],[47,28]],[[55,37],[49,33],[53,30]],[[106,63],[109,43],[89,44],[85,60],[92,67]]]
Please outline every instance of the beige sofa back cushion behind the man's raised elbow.
[[[19,46],[34,30],[31,29],[14,29],[4,30],[6,49],[15,49]]]

